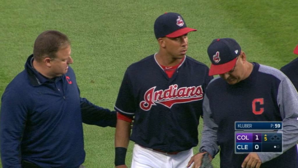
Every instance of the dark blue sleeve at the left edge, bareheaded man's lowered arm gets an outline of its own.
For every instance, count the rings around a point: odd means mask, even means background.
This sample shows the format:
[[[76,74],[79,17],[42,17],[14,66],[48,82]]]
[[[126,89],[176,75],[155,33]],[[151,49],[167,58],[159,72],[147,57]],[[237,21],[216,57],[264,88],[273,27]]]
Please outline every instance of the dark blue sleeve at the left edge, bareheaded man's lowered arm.
[[[0,152],[3,168],[21,168],[21,139],[27,118],[24,97],[6,90],[1,98]]]

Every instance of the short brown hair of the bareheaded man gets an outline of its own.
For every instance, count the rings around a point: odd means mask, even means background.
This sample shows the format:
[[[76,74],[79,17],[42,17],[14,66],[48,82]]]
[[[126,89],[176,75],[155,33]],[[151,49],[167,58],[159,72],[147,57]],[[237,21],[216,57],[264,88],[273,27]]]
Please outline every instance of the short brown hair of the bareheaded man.
[[[56,30],[42,32],[36,38],[33,48],[33,56],[36,61],[41,61],[45,57],[54,59],[58,50],[70,45],[68,37]]]

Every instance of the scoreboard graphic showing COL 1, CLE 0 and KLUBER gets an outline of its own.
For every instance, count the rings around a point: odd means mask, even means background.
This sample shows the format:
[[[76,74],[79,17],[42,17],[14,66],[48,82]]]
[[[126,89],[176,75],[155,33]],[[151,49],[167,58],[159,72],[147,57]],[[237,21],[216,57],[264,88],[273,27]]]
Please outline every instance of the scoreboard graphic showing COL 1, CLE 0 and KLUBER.
[[[282,153],[282,122],[235,122],[235,154]]]

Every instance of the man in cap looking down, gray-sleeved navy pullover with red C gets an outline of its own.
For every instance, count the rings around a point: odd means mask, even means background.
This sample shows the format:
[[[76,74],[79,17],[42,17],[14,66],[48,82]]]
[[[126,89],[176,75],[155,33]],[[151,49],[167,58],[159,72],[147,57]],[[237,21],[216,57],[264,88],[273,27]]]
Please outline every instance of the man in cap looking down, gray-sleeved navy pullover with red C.
[[[199,153],[214,157],[220,146],[221,168],[297,168],[298,94],[281,71],[248,62],[234,39],[215,39],[208,47],[209,75],[219,74],[205,92],[204,126]],[[235,154],[235,121],[283,121],[283,154]]]

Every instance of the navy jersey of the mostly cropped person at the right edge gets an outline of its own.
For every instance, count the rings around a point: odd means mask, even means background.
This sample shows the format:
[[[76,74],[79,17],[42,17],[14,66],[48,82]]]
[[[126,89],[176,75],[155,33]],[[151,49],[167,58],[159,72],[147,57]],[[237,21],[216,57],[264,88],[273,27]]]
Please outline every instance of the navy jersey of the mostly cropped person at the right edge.
[[[296,90],[298,90],[298,58],[280,68],[280,71],[287,75],[287,77],[295,86]]]

